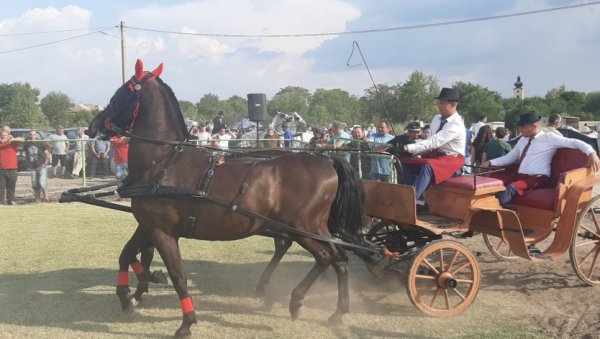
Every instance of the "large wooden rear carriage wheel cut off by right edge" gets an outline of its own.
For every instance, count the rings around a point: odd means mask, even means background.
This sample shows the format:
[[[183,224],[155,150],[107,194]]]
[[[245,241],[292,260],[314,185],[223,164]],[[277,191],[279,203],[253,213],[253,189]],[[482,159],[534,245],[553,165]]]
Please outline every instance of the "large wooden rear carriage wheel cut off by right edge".
[[[600,285],[600,195],[579,213],[569,256],[579,279],[588,285]]]

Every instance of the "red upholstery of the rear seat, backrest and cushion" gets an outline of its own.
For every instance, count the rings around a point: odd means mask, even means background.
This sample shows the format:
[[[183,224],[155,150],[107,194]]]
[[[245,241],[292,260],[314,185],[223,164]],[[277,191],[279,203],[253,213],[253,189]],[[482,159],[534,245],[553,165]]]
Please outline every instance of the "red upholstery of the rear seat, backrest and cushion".
[[[545,210],[555,210],[558,194],[564,184],[564,173],[587,165],[587,155],[578,149],[561,148],[552,158],[550,172],[550,188],[538,188],[523,196],[513,199],[515,205],[522,205]]]

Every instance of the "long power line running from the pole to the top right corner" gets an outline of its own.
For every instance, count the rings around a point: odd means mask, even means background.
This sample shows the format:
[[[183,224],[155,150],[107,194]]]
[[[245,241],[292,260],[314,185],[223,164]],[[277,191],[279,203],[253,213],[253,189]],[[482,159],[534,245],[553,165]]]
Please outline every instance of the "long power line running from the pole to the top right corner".
[[[167,30],[144,28],[144,27],[133,27],[133,26],[125,26],[125,28],[129,28],[132,30],[138,30],[138,31],[155,32],[155,33],[167,33],[167,34],[203,36],[203,37],[218,37],[218,38],[303,38],[303,37],[317,37],[317,36],[331,36],[331,35],[382,33],[382,32],[390,32],[390,31],[405,31],[405,30],[414,30],[414,29],[421,29],[421,28],[459,25],[459,24],[466,24],[466,23],[472,23],[472,22],[498,20],[498,19],[506,19],[506,18],[513,18],[513,17],[519,17],[519,16],[541,14],[541,13],[557,12],[557,11],[563,11],[563,10],[568,10],[568,9],[573,9],[573,8],[595,6],[595,5],[599,5],[599,4],[600,4],[600,1],[592,1],[592,2],[587,2],[587,3],[583,3],[583,4],[567,5],[567,6],[561,6],[561,7],[553,7],[553,8],[546,8],[546,9],[539,9],[539,10],[532,10],[532,11],[525,11],[525,12],[517,12],[517,13],[509,13],[509,14],[502,14],[502,15],[492,15],[492,16],[486,16],[486,17],[480,17],[480,18],[442,21],[442,22],[435,22],[435,23],[430,23],[430,24],[409,25],[409,26],[389,27],[389,28],[375,28],[375,29],[357,30],[357,31],[325,32],[325,33],[219,34],[219,33],[177,32],[177,31],[167,31]]]

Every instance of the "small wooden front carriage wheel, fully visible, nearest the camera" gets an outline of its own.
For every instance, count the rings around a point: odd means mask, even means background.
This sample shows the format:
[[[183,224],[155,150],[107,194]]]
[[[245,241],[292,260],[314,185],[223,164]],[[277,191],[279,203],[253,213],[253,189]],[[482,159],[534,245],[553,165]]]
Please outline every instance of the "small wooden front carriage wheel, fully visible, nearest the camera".
[[[475,300],[481,273],[471,251],[457,242],[440,240],[414,258],[407,278],[408,297],[421,312],[449,317]]]

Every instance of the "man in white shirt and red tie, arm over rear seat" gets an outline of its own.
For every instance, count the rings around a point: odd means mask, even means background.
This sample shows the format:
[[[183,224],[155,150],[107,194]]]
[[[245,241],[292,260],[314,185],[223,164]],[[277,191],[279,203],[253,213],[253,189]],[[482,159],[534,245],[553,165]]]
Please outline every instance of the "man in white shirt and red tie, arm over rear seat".
[[[500,178],[506,185],[506,191],[498,196],[503,206],[510,203],[517,194],[523,195],[536,187],[550,184],[552,157],[559,148],[577,148],[585,153],[588,156],[587,166],[594,173],[600,167],[600,159],[592,146],[577,139],[544,133],[541,128],[541,118],[534,112],[521,114],[517,126],[522,137],[515,147],[508,154],[481,164],[482,167],[519,164],[516,173],[508,173]]]

